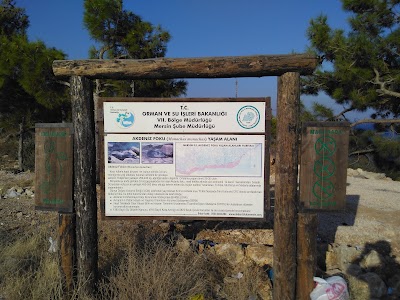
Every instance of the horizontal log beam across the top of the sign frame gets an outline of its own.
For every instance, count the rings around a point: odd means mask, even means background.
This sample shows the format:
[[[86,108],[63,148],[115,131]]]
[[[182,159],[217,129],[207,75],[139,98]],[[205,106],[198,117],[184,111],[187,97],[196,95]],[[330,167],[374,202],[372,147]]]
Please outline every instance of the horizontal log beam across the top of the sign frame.
[[[311,74],[318,59],[308,54],[204,58],[56,60],[56,76],[99,79],[232,78]]]

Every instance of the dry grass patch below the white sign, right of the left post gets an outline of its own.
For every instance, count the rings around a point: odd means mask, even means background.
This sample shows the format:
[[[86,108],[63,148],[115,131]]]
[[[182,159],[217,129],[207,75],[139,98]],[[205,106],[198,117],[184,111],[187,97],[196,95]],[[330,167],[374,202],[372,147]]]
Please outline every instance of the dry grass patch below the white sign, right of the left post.
[[[214,287],[230,271],[225,261],[192,249],[179,251],[173,236],[154,231],[151,224],[107,224],[100,224],[99,299],[216,299]]]

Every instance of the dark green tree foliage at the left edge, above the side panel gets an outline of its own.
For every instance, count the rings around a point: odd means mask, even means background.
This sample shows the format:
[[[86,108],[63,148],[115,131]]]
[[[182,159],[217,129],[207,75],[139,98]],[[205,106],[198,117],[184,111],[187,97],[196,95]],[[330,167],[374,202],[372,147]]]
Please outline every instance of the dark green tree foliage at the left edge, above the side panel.
[[[67,91],[52,72],[52,62],[65,55],[25,34],[28,16],[14,1],[3,0],[0,17],[0,126],[21,122],[61,121],[61,107],[68,108]]]

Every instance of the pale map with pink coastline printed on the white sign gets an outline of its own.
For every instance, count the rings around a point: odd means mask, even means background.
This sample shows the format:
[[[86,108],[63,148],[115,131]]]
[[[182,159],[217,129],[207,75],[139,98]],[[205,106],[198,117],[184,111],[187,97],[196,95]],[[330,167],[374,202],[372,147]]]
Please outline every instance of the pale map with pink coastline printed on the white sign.
[[[262,144],[176,143],[176,175],[262,176]]]

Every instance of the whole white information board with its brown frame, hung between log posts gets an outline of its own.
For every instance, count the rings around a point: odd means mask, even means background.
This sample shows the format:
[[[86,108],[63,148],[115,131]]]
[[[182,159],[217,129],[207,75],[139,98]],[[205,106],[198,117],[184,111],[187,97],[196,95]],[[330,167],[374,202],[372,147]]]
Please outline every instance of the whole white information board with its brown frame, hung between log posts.
[[[269,98],[100,98],[99,109],[105,217],[265,217]]]

